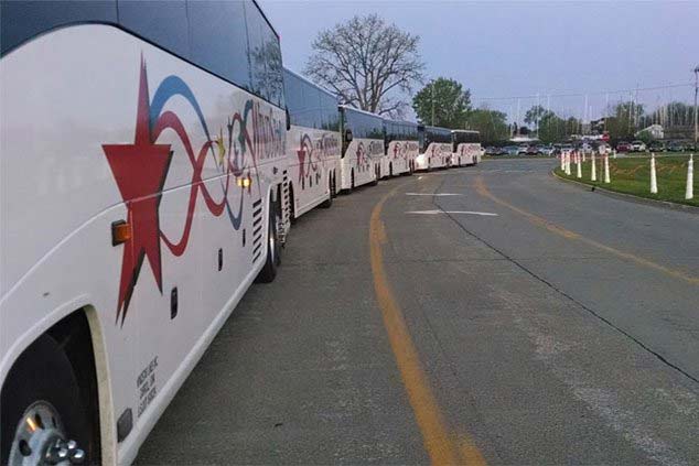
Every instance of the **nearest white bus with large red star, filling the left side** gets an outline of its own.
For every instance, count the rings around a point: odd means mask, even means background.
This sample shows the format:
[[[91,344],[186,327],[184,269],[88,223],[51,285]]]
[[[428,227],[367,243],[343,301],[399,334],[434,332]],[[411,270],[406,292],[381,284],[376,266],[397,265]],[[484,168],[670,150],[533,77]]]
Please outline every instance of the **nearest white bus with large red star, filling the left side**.
[[[0,17],[0,464],[130,464],[275,278],[279,39],[252,1]]]

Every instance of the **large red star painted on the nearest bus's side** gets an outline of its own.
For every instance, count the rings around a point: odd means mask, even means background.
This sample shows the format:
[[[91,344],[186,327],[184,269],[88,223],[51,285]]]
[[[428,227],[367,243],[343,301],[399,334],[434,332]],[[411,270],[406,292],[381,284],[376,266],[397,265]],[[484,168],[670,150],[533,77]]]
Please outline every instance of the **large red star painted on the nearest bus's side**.
[[[158,289],[162,294],[158,207],[172,153],[170,144],[152,143],[149,115],[148,78],[146,64],[141,57],[133,143],[103,144],[111,173],[121,197],[126,202],[128,221],[131,225],[131,238],[123,245],[123,259],[121,261],[121,282],[117,306],[117,321],[121,316],[121,325],[123,325],[143,258],[148,258]]]

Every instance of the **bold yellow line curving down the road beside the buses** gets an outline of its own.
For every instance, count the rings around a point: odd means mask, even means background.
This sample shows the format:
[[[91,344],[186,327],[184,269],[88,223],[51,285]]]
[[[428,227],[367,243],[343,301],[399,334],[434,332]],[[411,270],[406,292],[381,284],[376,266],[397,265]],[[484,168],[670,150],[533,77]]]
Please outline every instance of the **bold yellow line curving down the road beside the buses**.
[[[384,326],[431,463],[434,465],[485,465],[481,452],[467,435],[455,435],[450,432],[442,411],[432,394],[432,389],[420,362],[420,355],[412,343],[405,317],[384,269],[381,245],[386,243],[387,237],[380,218],[381,209],[386,199],[404,184],[396,186],[381,197],[372,212],[369,225],[374,289],[384,317]]]

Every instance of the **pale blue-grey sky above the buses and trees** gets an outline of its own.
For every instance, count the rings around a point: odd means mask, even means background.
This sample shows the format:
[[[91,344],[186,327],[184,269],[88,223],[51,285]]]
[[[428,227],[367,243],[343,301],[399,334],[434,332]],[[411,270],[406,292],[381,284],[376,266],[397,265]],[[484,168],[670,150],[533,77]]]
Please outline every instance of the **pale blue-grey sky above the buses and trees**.
[[[376,12],[419,34],[429,77],[452,77],[478,106],[492,97],[540,95],[539,102],[596,118],[635,89],[688,84],[699,65],[699,1],[466,2],[430,0],[260,0],[281,36],[286,66],[300,72],[322,29],[353,14]],[[558,94],[581,96],[557,97]],[[634,91],[634,94],[636,94]],[[588,110],[585,111],[585,96]],[[691,86],[637,93],[647,107],[691,101]],[[551,96],[551,97],[549,97]],[[536,104],[487,100],[515,118]]]

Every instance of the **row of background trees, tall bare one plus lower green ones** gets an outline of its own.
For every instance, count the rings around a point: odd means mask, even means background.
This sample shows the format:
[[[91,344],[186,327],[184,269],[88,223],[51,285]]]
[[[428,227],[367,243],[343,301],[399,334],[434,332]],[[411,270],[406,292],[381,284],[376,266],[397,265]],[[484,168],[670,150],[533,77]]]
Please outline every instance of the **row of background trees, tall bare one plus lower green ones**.
[[[580,119],[559,116],[538,105],[527,110],[525,124],[516,122],[514,127],[502,111],[487,106],[473,108],[471,90],[461,83],[448,77],[426,82],[419,44],[419,35],[401,31],[377,14],[355,15],[319,33],[303,72],[332,89],[342,104],[395,119],[404,118],[412,107],[421,122],[477,130],[485,144],[506,141],[513,133],[535,131],[540,141],[548,143],[583,132]],[[691,108],[681,102],[646,113],[643,105],[624,101],[607,109],[607,117],[592,130],[609,132],[616,142],[634,139],[639,129],[654,122],[680,123],[687,116],[691,116]],[[641,137],[647,139],[648,134]]]

